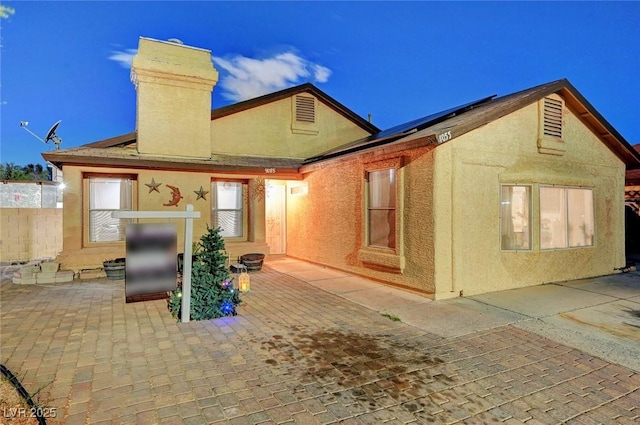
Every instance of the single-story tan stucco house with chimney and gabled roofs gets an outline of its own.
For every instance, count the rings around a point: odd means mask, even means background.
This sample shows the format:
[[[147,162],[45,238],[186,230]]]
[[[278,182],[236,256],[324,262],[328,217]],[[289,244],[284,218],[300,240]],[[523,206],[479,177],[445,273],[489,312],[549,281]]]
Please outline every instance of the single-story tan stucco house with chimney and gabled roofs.
[[[287,254],[442,299],[614,273],[640,155],[567,81],[381,131],[313,85],[211,111],[210,52],[141,38],[133,133],[63,168],[66,268],[124,253],[114,210],[193,204],[234,258]],[[179,234],[179,238],[182,235]]]

